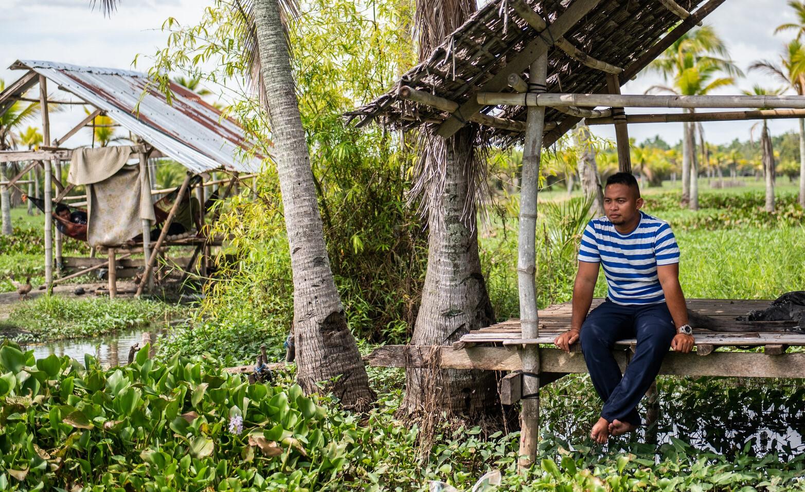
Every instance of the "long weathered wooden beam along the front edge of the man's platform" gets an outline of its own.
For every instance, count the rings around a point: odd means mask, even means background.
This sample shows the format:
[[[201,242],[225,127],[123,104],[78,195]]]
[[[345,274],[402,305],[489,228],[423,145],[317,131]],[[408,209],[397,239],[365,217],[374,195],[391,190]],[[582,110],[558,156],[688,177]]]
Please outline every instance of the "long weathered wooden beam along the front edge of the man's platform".
[[[382,346],[368,359],[373,367],[428,367],[431,346]],[[628,351],[613,351],[625,369]],[[566,354],[552,348],[539,349],[541,372],[586,373],[580,352]],[[440,367],[446,369],[482,369],[487,371],[521,371],[522,362],[515,351],[506,347],[473,347],[454,351],[451,347],[436,352]],[[695,353],[670,352],[663,360],[661,375],[724,376],[747,378],[805,378],[805,353],[785,353],[768,357],[752,352],[714,352],[707,357]]]

